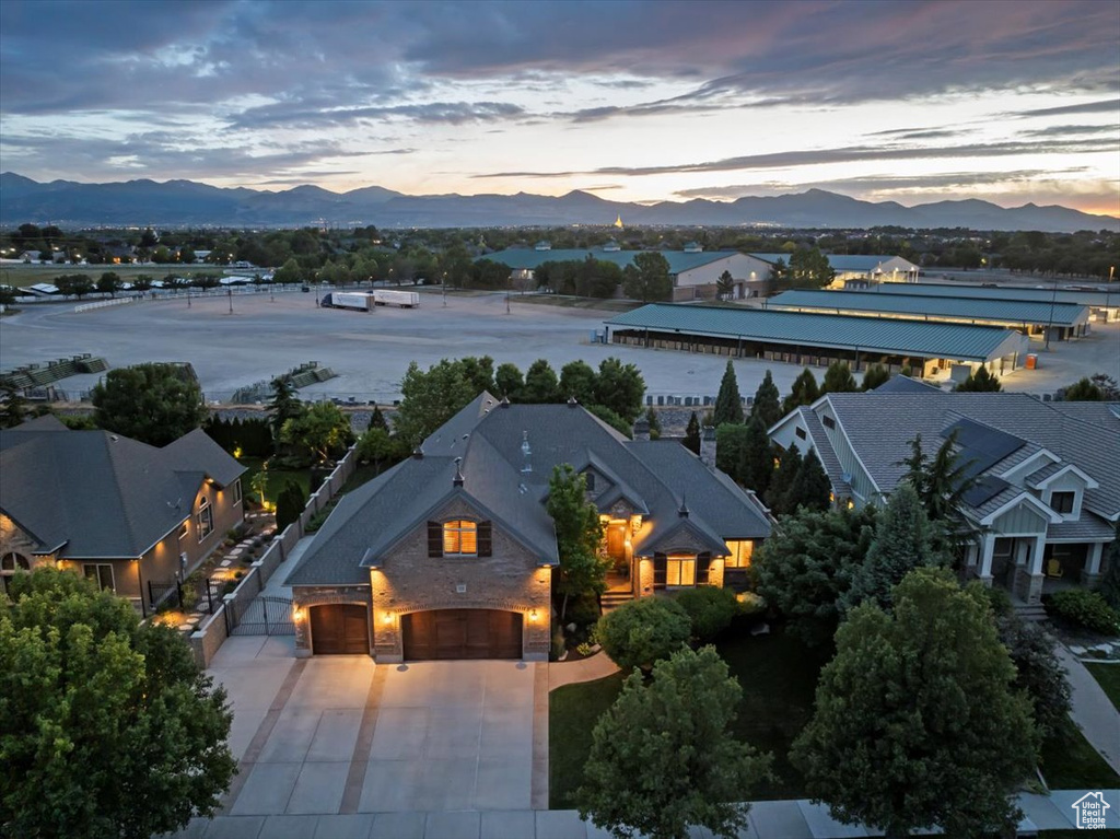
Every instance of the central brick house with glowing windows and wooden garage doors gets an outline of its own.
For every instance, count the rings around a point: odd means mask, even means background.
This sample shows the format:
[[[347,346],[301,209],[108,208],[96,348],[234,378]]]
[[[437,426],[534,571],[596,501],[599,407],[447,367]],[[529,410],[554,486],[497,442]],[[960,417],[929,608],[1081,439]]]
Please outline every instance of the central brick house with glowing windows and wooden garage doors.
[[[586,475],[632,597],[744,584],[766,509],[674,440],[629,440],[575,402],[482,393],[348,493],[289,575],[297,654],[544,660],[554,466]]]

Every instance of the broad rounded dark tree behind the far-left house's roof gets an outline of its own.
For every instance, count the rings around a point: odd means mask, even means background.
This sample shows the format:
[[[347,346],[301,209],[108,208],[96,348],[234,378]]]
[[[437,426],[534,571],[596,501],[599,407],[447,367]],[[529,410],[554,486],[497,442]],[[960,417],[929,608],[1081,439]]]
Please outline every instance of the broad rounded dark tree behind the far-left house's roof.
[[[206,420],[198,382],[175,364],[110,370],[91,399],[99,428],[150,446],[166,446]]]

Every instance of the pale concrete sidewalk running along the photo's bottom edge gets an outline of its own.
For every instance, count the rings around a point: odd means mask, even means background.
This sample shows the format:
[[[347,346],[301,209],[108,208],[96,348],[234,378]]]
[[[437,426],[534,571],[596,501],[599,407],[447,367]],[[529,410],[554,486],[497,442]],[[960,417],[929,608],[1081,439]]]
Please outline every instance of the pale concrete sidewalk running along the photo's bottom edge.
[[[1058,790],[1023,794],[1020,832],[1076,828],[1074,802],[1095,790]],[[1104,790],[1111,804],[1108,827],[1120,828],[1120,790]],[[693,829],[697,839],[707,830]],[[176,839],[608,839],[610,835],[580,821],[575,810],[356,813],[353,815],[242,815],[212,821],[195,819]],[[750,809],[740,839],[842,839],[881,836],[858,826],[840,824],[828,808],[808,801],[759,801]],[[1091,836],[1091,835],[1090,835]],[[1043,833],[1045,839],[1045,833]]]

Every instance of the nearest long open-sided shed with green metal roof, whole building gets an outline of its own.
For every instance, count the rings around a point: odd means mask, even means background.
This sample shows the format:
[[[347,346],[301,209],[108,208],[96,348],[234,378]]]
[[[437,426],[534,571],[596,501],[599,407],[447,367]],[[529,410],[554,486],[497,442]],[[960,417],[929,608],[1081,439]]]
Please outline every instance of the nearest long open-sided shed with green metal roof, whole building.
[[[954,364],[1002,375],[1025,362],[1029,338],[995,326],[715,306],[650,304],[606,321],[607,341],[629,346],[763,358],[806,366],[933,376]]]

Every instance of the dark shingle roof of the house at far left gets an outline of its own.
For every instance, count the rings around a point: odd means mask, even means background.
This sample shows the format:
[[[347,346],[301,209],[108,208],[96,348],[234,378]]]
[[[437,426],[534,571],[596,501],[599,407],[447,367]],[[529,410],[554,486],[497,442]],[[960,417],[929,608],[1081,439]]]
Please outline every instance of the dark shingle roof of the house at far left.
[[[203,431],[155,448],[108,431],[0,432],[0,509],[64,558],[139,557],[192,514],[211,477],[244,467]]]

